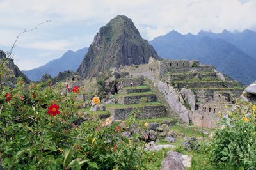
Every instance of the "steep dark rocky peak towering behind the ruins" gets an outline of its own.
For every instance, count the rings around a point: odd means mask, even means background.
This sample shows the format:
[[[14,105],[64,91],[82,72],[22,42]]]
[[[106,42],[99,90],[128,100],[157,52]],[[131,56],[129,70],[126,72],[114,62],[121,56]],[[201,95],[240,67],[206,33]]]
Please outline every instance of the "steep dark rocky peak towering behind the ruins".
[[[143,40],[131,19],[118,15],[100,28],[79,66],[84,78],[120,65],[148,63],[149,57],[161,59],[156,50]]]

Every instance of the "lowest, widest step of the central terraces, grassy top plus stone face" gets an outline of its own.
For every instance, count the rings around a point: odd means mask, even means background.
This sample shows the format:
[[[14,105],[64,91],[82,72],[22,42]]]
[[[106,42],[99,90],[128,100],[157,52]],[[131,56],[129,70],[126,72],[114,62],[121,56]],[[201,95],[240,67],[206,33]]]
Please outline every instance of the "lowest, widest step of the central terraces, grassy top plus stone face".
[[[158,102],[133,105],[106,105],[115,120],[125,120],[132,112],[140,119],[161,118],[167,115],[166,107]]]

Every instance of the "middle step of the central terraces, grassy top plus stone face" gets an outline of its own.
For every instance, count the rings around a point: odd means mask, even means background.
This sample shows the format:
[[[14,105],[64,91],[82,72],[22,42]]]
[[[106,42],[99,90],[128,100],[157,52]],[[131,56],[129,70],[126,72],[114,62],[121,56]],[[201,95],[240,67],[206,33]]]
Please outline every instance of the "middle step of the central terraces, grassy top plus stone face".
[[[118,94],[114,95],[117,99],[118,104],[140,104],[141,102],[156,102],[157,97],[152,91],[145,93],[129,93],[129,94]],[[145,98],[143,100],[143,98]],[[141,101],[143,100],[143,101]]]

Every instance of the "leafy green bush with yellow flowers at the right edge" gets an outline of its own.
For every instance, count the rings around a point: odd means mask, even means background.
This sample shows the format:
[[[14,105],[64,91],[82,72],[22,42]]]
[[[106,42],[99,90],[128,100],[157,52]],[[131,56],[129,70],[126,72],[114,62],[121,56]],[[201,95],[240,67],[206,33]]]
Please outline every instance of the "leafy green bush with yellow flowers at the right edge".
[[[237,103],[229,118],[223,118],[223,129],[216,130],[211,144],[211,160],[256,169],[256,105]]]

